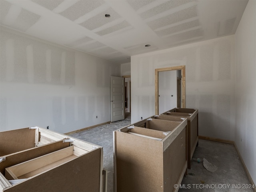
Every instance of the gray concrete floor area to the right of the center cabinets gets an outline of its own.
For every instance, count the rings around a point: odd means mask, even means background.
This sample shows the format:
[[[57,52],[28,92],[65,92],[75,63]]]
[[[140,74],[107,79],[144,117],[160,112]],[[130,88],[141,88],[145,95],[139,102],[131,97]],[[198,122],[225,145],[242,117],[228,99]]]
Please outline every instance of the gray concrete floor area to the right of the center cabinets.
[[[197,158],[200,163],[194,161]],[[215,172],[206,170],[203,158],[218,169]],[[253,192],[246,184],[250,182],[234,145],[199,139],[191,169],[183,178],[183,188],[179,192]]]

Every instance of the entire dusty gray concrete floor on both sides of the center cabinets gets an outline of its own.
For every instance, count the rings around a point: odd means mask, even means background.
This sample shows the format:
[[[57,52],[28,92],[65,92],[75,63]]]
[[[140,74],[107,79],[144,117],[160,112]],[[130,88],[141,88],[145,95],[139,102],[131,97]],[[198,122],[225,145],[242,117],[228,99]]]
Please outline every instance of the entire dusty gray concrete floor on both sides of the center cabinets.
[[[113,191],[113,131],[130,125],[130,113],[125,120],[98,126],[70,136],[103,147],[103,168],[108,170],[108,192]],[[244,168],[232,144],[199,140],[193,158],[201,162],[191,162],[191,169],[183,180],[179,192],[253,192]],[[217,166],[215,172],[206,170],[203,158]]]

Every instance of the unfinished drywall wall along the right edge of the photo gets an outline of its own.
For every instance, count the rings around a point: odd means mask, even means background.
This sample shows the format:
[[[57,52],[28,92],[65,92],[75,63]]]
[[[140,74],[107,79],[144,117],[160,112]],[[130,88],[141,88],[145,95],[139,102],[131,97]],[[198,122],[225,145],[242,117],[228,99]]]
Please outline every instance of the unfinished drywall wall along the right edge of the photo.
[[[236,30],[235,143],[256,183],[256,1],[250,0]]]

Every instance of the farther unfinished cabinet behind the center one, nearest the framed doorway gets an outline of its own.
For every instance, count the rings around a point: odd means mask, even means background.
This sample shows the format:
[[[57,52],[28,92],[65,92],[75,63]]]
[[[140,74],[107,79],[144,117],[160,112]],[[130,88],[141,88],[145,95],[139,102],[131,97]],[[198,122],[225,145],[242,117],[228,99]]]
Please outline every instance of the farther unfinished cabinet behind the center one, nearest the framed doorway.
[[[173,108],[163,114],[188,119],[188,169],[190,169],[190,161],[198,146],[198,109]]]

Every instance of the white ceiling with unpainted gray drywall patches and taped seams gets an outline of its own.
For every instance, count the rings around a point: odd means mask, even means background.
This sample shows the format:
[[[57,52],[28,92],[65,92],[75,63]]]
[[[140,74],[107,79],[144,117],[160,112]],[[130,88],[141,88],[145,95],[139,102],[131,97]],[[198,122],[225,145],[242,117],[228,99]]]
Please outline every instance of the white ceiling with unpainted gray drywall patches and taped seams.
[[[126,63],[132,55],[234,34],[247,2],[0,0],[0,24]],[[145,47],[146,44],[151,46]]]

